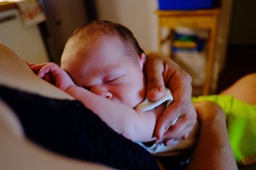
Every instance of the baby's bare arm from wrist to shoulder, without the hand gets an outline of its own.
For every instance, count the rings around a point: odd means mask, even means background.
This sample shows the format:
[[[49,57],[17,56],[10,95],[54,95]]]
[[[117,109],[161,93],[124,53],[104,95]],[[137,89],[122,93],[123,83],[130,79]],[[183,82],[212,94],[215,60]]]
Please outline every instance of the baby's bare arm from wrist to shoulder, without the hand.
[[[146,142],[154,139],[154,127],[164,106],[147,112],[135,111],[125,104],[97,96],[82,87],[72,86],[66,92],[99,115],[109,127],[125,138],[134,142]]]

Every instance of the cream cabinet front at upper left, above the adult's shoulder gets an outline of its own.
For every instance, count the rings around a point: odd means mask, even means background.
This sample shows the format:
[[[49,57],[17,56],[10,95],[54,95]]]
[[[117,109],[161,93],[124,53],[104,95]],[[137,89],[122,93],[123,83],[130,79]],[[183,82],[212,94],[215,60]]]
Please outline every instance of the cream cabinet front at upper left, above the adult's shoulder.
[[[35,64],[49,62],[38,27],[36,25],[24,27],[17,9],[0,12],[0,18],[6,16],[15,16],[15,18],[1,22],[0,42],[29,62]]]

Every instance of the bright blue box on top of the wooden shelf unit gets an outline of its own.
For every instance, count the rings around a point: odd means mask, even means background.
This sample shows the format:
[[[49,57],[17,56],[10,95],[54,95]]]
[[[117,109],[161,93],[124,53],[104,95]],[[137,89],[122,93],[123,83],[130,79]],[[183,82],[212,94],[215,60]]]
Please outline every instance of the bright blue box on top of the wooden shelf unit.
[[[214,0],[158,0],[159,10],[200,10],[214,6]]]

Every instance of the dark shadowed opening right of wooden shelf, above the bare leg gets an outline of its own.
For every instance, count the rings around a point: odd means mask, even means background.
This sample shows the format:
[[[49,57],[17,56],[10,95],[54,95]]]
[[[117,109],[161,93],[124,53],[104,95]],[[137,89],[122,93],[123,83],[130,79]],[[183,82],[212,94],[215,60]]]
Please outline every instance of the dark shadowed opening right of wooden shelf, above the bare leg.
[[[225,67],[220,73],[221,92],[242,76],[256,72],[256,1],[234,0]]]

